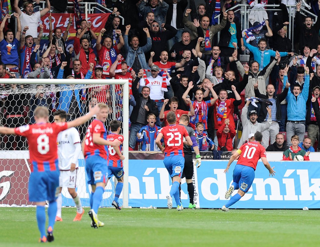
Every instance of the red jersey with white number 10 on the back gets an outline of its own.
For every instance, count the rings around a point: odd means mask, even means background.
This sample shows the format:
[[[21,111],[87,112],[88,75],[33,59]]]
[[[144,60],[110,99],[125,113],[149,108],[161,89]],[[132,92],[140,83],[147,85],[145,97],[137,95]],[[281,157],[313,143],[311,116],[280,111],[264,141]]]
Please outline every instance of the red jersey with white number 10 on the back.
[[[241,154],[239,156],[237,164],[250,166],[256,170],[258,160],[261,157],[267,157],[266,149],[258,142],[247,142],[240,148]]]

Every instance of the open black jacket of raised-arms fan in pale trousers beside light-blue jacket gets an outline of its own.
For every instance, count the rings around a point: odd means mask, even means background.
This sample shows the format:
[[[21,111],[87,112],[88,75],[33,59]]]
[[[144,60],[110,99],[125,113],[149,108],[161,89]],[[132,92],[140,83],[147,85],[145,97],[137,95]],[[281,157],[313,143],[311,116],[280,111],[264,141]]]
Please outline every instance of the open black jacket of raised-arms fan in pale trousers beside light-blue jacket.
[[[281,106],[280,103],[285,100],[285,97],[287,97],[289,88],[284,88],[283,92],[277,96],[273,95],[273,98],[276,99],[276,119],[280,121],[282,119],[282,114],[281,114]],[[258,98],[261,99],[268,99],[269,97],[267,95],[263,95],[260,93],[259,89],[254,89],[254,95]],[[266,116],[268,115],[267,111],[267,104],[264,102],[260,102],[261,104],[261,109],[258,117],[258,122],[261,123],[266,119]]]

